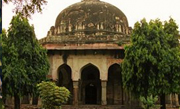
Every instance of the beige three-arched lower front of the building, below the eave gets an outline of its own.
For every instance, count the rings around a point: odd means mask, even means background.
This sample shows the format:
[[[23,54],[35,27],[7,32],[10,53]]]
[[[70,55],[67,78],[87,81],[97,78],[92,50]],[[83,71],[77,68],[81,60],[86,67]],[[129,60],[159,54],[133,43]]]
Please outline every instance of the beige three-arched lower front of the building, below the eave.
[[[117,109],[125,108],[131,102],[138,105],[122,88],[120,63],[124,58],[123,48],[53,50],[48,51],[48,57],[50,77],[72,94],[67,105],[78,108],[85,105],[116,105]]]

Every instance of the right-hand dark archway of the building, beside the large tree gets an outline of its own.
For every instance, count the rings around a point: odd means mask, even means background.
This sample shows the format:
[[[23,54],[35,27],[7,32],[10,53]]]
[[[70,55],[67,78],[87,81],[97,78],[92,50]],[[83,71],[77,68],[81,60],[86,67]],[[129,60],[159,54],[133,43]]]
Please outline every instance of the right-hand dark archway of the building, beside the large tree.
[[[124,91],[122,85],[123,84],[120,65],[113,64],[108,69],[107,104],[124,104]]]

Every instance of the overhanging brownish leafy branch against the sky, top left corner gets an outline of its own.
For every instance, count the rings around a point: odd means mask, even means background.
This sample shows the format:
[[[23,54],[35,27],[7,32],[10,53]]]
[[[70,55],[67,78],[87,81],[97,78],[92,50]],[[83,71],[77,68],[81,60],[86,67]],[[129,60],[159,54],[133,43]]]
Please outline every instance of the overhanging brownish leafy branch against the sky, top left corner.
[[[31,14],[42,12],[43,5],[46,5],[46,0],[3,0],[4,3],[12,2],[16,13],[21,13],[25,17],[30,17]]]

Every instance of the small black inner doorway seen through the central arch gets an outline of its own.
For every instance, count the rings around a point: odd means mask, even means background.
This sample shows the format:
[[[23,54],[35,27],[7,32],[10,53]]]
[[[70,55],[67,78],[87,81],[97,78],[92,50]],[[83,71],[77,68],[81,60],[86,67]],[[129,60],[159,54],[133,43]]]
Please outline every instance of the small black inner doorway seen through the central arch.
[[[85,88],[85,104],[97,104],[97,88],[94,84],[88,84]]]

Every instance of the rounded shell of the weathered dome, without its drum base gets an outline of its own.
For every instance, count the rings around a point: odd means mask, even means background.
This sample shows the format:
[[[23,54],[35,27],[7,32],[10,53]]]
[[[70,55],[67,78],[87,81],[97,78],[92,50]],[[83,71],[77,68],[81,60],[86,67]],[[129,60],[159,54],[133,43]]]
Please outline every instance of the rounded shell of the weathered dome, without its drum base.
[[[121,30],[118,29],[121,26]],[[122,32],[128,27],[124,13],[115,6],[99,0],[83,0],[64,9],[56,18],[55,28],[65,29],[61,33],[83,31]],[[67,34],[67,33],[66,33]]]

